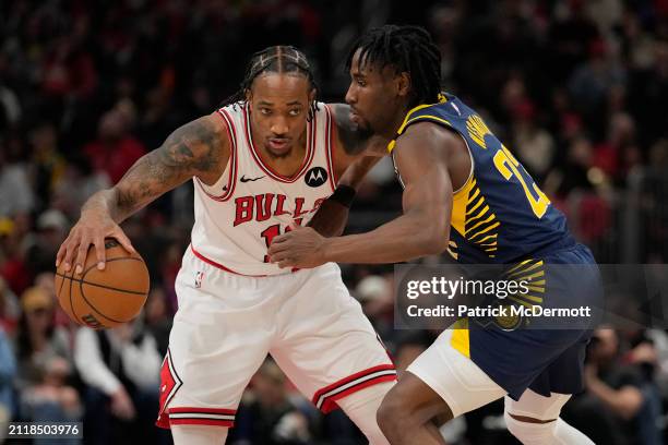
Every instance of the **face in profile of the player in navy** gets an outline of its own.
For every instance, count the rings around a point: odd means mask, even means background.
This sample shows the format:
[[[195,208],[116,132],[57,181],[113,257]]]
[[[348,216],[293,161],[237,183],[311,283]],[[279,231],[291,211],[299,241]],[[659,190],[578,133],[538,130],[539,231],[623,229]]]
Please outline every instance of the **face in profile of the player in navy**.
[[[359,53],[357,50],[353,57],[350,86],[346,93],[346,103],[351,108],[350,120],[363,130],[393,134],[402,106],[397,76],[390,67],[360,65]]]

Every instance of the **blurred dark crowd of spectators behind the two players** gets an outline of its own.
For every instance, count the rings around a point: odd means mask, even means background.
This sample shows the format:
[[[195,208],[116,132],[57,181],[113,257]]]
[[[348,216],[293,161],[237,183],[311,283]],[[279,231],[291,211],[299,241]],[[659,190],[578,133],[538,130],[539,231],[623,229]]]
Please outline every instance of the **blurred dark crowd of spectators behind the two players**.
[[[84,422],[88,443],[169,443],[153,421],[191,185],[123,225],[152,276],[132,324],[94,332],[68,320],[53,287],[60,243],[87,196],[232,94],[253,51],[301,48],[321,99],[341,101],[347,48],[383,23],[432,33],[444,89],[484,116],[600,262],[665,263],[666,0],[0,2],[0,425],[73,420]],[[349,230],[396,215],[399,196],[391,165],[381,164]],[[344,274],[404,369],[434,333],[393,329],[391,267]],[[666,332],[597,330],[586,387],[564,418],[596,443],[664,443]],[[516,443],[499,405],[442,432],[452,444]],[[341,412],[320,416],[271,360],[253,377],[229,442],[362,443]]]

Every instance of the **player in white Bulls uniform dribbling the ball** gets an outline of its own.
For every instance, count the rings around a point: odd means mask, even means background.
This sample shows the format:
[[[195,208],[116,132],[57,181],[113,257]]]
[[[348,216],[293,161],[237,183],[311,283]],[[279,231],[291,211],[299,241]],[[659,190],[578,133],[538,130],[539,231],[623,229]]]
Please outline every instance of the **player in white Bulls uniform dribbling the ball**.
[[[375,412],[396,372],[338,266],[286,270],[266,256],[274,237],[307,225],[331,195],[327,205],[349,205],[351,189],[335,193],[337,178],[386,141],[358,132],[347,106],[317,103],[309,63],[293,47],[255,53],[228,103],[93,195],[57,264],[80,273],[94,245],[104,268],[105,237],[132,251],[118,224],[192,179],[195,222],[176,280],[157,424],[171,428],[177,444],[224,443],[271,353],[319,409],[341,407],[372,444],[386,444]],[[341,230],[321,222],[323,234]]]

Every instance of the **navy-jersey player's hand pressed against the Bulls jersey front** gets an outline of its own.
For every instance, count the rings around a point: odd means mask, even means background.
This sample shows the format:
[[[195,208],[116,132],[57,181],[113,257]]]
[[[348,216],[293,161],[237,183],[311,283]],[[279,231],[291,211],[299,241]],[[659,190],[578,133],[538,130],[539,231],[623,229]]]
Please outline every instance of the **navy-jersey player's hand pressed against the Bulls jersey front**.
[[[269,249],[272,263],[278,267],[317,267],[324,263],[326,238],[310,227],[291,226],[290,231],[274,238]]]

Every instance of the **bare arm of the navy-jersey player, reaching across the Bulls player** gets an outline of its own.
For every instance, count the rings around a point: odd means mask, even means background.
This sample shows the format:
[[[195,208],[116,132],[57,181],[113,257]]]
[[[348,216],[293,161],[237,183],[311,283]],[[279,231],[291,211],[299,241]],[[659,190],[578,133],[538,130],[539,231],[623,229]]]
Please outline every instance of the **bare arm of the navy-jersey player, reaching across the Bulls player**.
[[[282,267],[314,267],[326,262],[396,263],[439,254],[448,246],[452,182],[448,149],[452,133],[432,123],[408,128],[394,159],[404,181],[404,214],[367,233],[322,238],[308,228],[276,237],[272,262]]]

